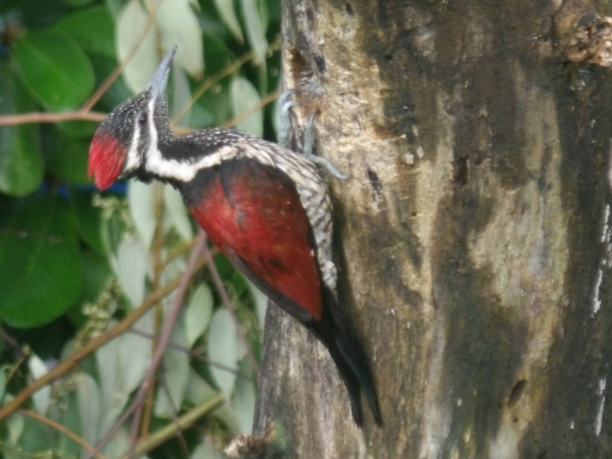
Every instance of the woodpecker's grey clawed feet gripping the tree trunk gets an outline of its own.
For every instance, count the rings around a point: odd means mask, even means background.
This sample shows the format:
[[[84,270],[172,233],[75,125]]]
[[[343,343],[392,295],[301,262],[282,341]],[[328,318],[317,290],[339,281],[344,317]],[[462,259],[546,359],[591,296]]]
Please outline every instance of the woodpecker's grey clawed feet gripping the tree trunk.
[[[283,94],[280,95],[280,127],[278,129],[278,143],[282,146],[289,148],[290,137],[291,137],[291,107],[294,105],[300,105],[297,100],[291,100],[289,97],[297,94],[295,89],[286,89]],[[323,166],[329,173],[338,177],[338,179],[348,179],[347,174],[341,173],[336,166],[334,166],[329,160],[317,156],[313,153],[313,146],[315,144],[315,118],[318,111],[308,116],[308,121],[304,128],[304,140],[300,148],[302,155],[307,157],[310,161],[316,165]]]

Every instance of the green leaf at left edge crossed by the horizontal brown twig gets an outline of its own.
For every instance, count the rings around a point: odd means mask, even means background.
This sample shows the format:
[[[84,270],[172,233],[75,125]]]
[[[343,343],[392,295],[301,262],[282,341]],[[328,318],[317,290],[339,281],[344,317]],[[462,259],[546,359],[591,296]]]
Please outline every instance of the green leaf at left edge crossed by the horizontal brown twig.
[[[29,94],[0,62],[0,114],[34,110]],[[35,124],[0,126],[0,192],[26,196],[40,186],[45,163],[40,148],[40,130]]]

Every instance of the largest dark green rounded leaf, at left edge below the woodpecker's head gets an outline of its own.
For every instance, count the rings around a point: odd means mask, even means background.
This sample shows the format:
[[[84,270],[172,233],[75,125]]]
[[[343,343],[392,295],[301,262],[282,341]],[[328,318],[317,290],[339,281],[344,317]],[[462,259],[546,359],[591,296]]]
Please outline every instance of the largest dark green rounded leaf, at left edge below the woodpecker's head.
[[[62,315],[83,286],[83,260],[67,206],[34,201],[0,228],[0,318],[36,327]]]

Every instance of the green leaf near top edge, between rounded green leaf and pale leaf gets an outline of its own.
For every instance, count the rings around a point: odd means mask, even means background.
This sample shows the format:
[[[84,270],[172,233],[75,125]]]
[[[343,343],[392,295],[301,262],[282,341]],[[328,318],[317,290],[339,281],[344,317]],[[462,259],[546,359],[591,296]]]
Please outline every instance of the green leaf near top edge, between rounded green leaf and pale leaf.
[[[69,34],[85,51],[111,58],[115,56],[113,18],[108,8],[103,5],[65,15],[53,25],[53,29]]]

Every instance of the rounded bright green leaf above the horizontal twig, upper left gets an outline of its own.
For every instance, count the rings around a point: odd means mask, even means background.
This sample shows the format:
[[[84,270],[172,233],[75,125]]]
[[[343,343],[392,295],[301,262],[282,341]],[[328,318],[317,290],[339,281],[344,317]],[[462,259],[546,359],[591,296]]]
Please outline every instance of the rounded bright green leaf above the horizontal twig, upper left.
[[[48,110],[75,109],[91,94],[91,62],[65,32],[31,32],[16,40],[13,50],[26,86]]]

